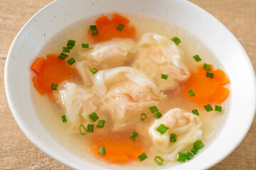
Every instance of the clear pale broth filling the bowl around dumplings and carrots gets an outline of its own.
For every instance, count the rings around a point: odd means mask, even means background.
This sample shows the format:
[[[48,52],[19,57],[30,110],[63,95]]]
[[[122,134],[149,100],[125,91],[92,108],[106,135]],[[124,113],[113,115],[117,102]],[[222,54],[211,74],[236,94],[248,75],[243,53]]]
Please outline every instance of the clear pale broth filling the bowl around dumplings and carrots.
[[[184,52],[184,63],[188,69],[195,70],[198,66],[198,63],[196,63],[193,59],[193,55],[200,55],[203,62],[211,63],[215,68],[222,68],[219,62],[215,60],[212,52],[208,51],[207,47],[205,47],[202,42],[198,41],[193,35],[189,35],[182,28],[175,26],[174,23],[161,21],[159,18],[151,18],[148,16],[137,16],[135,14],[127,13],[121,14],[129,18],[131,21],[130,24],[137,28],[138,40],[144,33],[158,33],[166,36],[167,38],[172,38],[174,36],[180,38],[182,42],[178,46],[181,47]],[[46,45],[43,46],[37,57],[42,57],[53,53],[60,54],[60,52],[62,52],[62,48],[66,46],[67,40],[75,40],[76,45],[73,50],[70,51],[70,56],[75,58],[75,56],[78,55],[78,52],[83,50],[82,47],[80,47],[80,44],[92,43],[91,38],[87,35],[87,29],[90,25],[95,23],[95,19],[97,19],[97,17],[98,16],[86,18],[85,20],[79,21],[78,23],[73,23],[67,28],[64,28],[57,35],[53,36],[53,38],[51,38]],[[57,106],[55,103],[48,101],[46,96],[40,96],[36,89],[33,88],[32,83],[31,96],[33,97],[34,107],[36,108],[38,119],[41,120],[41,123],[48,130],[50,135],[52,135],[53,138],[60,143],[60,145],[88,162],[110,167],[110,164],[105,162],[105,160],[94,159],[92,157],[92,152],[90,151],[89,147],[90,144],[88,143],[88,139],[90,139],[92,134],[82,136],[80,135],[79,131],[75,134],[70,133],[68,123],[62,123],[60,118],[61,115],[64,115],[63,109],[60,106]],[[179,91],[173,91],[168,100],[171,102],[160,103],[159,111],[161,111],[161,113],[166,113],[166,111],[169,111],[169,109],[177,107],[183,108],[188,112],[191,112],[195,108],[199,108],[196,106],[196,104],[186,101]],[[198,109],[198,112],[200,113],[199,118],[203,123],[201,127],[201,130],[203,131],[202,141],[206,147],[208,147],[210,142],[215,139],[216,135],[218,135],[218,132],[223,126],[225,113],[228,111],[228,101],[229,98],[225,101],[225,103],[223,103],[222,113],[215,111],[207,113],[203,108]],[[149,127],[149,125],[153,122],[154,119],[148,121],[146,127]],[[147,132],[147,130],[145,132]],[[132,167],[136,167],[136,169],[148,169],[149,166],[159,167],[154,163],[154,157],[156,156],[154,153],[156,152],[158,152],[156,149],[151,149],[147,154],[148,159],[144,160],[144,162],[131,162],[129,164],[125,164],[125,166],[112,164],[112,168],[120,169],[120,167],[122,167],[122,169],[131,169]],[[159,152],[158,155],[161,156],[161,153]],[[165,162],[164,164],[165,166],[175,166],[175,164],[178,163]]]

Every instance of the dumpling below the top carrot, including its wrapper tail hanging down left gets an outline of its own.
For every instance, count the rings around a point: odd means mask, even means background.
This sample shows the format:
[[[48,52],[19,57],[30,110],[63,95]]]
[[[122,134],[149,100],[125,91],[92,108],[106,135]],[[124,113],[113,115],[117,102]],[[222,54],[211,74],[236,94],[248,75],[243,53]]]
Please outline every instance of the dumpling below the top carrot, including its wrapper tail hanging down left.
[[[114,38],[109,41],[90,45],[92,49],[81,52],[75,64],[86,86],[92,86],[90,69],[111,69],[129,64],[134,59],[137,47],[129,38]]]

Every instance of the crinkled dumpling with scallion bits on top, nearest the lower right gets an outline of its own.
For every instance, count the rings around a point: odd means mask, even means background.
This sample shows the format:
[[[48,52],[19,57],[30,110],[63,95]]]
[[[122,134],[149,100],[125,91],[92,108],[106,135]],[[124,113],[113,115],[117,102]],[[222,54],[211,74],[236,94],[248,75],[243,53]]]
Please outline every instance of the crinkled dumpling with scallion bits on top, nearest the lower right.
[[[164,124],[169,130],[161,134],[156,129]],[[166,159],[176,160],[178,152],[192,149],[193,143],[201,139],[201,120],[193,113],[187,113],[180,108],[174,108],[165,113],[161,118],[154,121],[149,128],[149,135],[154,146],[159,151],[167,153]],[[170,141],[170,135],[177,135],[176,142]]]

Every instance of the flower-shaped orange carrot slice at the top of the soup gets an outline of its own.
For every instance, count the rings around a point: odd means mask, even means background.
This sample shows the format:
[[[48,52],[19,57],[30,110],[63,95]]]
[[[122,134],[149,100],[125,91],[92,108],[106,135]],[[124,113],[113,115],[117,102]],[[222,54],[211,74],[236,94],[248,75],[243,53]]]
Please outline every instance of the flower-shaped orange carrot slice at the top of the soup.
[[[96,42],[112,40],[112,38],[136,38],[135,27],[128,26],[129,19],[118,13],[114,13],[111,20],[107,18],[107,16],[101,16],[100,18],[97,18],[95,23],[98,34],[92,35],[90,28],[88,29],[88,34]],[[117,30],[119,24],[124,25],[124,28],[121,31]]]

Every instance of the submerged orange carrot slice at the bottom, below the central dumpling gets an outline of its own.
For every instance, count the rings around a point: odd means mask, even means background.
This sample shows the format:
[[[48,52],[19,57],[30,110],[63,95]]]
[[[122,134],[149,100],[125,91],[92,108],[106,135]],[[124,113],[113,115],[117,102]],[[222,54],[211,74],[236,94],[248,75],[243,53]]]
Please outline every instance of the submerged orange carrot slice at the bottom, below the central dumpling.
[[[125,135],[124,135],[125,134]],[[129,134],[115,132],[106,135],[92,137],[90,148],[95,158],[105,157],[107,162],[126,163],[130,159],[139,160],[142,154],[142,142],[135,142],[129,138]],[[105,154],[99,153],[99,147],[105,147]]]

